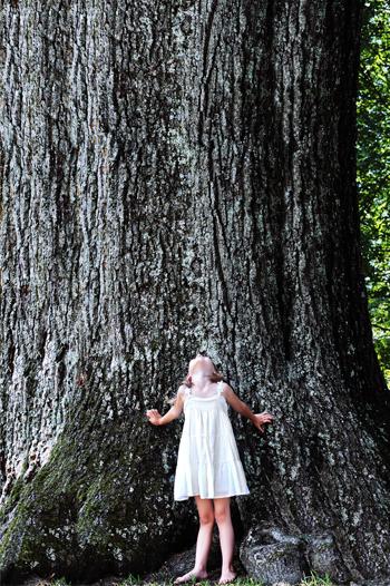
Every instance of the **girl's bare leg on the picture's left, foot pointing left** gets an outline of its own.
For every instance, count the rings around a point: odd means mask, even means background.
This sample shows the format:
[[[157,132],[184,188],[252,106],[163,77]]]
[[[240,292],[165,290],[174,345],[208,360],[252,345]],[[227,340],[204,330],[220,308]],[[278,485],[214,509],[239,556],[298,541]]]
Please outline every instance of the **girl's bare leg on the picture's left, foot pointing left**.
[[[207,578],[207,558],[213,538],[214,507],[213,499],[195,496],[197,511],[199,515],[199,531],[196,540],[195,566],[193,569],[175,579],[174,584],[191,580],[193,577]]]

